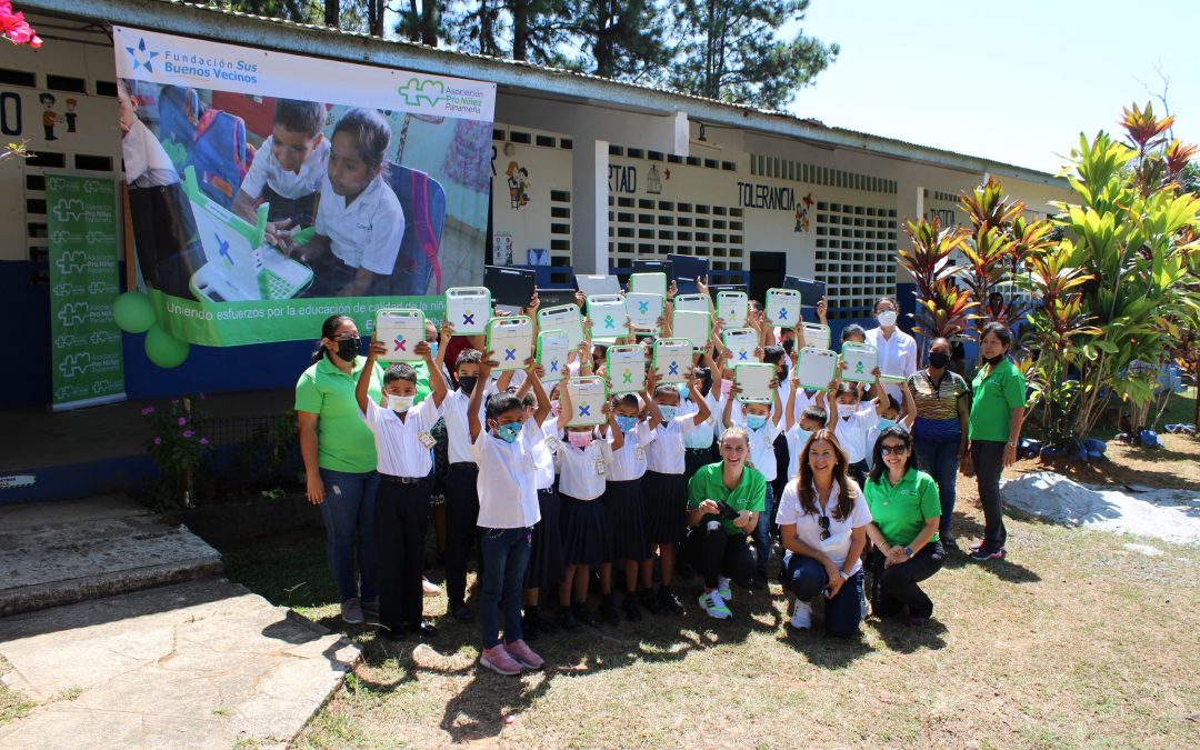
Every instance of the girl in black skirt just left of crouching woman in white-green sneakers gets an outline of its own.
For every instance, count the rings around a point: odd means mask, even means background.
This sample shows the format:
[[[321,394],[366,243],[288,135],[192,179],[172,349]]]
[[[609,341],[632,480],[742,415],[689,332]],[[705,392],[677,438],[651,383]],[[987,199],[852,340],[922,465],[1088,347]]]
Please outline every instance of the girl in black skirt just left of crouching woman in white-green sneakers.
[[[688,529],[688,480],[684,476],[684,437],[708,421],[712,415],[704,397],[700,395],[700,380],[692,380],[689,395],[696,394],[696,412],[679,414],[679,389],[659,385],[654,389],[654,403],[662,415],[655,428],[654,442],[646,446],[647,472],[642,478],[643,518],[646,538],[650,542],[650,557],[641,564],[642,588],[638,595],[642,606],[654,611],[666,607],[683,614],[683,602],[671,590],[674,578],[676,552],[683,544]],[[662,586],[654,593],[654,551],[662,560]]]

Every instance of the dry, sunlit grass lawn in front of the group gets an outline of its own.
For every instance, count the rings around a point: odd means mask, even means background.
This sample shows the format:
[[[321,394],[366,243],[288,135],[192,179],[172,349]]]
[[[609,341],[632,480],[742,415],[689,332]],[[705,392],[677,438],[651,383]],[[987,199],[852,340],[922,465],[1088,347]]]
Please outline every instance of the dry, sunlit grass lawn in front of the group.
[[[1114,445],[1062,468],[1081,481],[1200,486],[1200,442]],[[1044,469],[1024,462],[1015,470]],[[790,601],[734,590],[732,622],[697,611],[544,636],[542,672],[480,671],[478,629],[443,618],[428,644],[348,632],[366,661],[301,746],[1200,746],[1200,548],[1012,516],[1009,558],[971,563],[982,532],[959,484],[960,551],[926,583],[923,629],[869,619],[859,640],[786,626]],[[1127,547],[1130,542],[1153,547]],[[343,629],[320,540],[229,552],[230,577]],[[436,575],[434,575],[436,578]],[[820,626],[820,608],[818,608]],[[0,696],[2,700],[2,696]]]

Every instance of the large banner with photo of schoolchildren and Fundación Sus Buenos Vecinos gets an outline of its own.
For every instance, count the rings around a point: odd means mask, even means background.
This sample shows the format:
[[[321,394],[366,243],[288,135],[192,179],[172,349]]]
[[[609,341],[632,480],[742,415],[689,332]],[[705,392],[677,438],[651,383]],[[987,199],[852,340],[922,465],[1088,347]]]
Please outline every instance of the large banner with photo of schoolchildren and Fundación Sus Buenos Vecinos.
[[[484,276],[496,84],[114,26],[125,176],[157,323],[208,346],[330,314],[439,318]]]

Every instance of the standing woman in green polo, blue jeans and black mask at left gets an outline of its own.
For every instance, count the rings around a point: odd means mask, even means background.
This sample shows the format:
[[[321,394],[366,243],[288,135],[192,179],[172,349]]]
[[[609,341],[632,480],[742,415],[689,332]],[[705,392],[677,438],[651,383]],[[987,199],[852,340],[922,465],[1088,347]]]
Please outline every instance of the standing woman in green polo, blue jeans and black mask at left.
[[[320,348],[296,383],[300,454],[308,479],[308,502],[320,506],[328,538],[329,566],[349,624],[378,614],[379,588],[374,546],[374,437],[359,414],[354,388],[367,358],[359,356],[359,329],[347,316],[322,325]],[[383,396],[383,372],[371,379],[371,398]],[[358,542],[358,582],[355,582]]]

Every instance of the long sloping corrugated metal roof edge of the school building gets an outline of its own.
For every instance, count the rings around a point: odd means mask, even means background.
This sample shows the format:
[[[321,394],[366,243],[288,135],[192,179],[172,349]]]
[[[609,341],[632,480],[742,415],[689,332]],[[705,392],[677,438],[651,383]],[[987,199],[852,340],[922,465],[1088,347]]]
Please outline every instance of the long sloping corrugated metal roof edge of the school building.
[[[664,114],[685,112],[691,119],[701,120],[707,125],[738,127],[824,146],[878,154],[889,158],[971,173],[986,172],[1067,187],[1066,180],[1046,172],[898,138],[828,126],[817,119],[800,118],[787,112],[731,104],[646,84],[611,80],[581,71],[428,47],[407,40],[385,40],[358,31],[265,18],[180,0],[89,0],[84,7],[80,7],[78,0],[24,0],[22,6],[25,10],[36,8],[68,17],[86,17],[118,25],[140,26],[184,36],[350,62],[476,78],[494,82],[502,89],[511,88],[551,95],[564,101],[614,104]],[[252,23],[230,25],[232,19]]]

